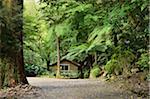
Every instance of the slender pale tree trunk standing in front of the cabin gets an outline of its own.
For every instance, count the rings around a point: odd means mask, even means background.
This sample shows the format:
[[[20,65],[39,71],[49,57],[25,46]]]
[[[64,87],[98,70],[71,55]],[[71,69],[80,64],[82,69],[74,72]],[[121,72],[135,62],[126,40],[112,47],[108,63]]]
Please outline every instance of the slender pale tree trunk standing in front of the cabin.
[[[56,73],[56,78],[60,77],[60,41],[59,37],[56,37],[56,42],[57,42],[57,73]]]

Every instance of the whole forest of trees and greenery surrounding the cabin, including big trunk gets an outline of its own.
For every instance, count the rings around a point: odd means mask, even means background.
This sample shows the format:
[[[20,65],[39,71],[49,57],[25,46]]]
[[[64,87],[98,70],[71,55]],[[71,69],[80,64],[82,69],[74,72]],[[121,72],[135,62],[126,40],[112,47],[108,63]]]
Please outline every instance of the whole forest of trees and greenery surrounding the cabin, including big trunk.
[[[149,81],[149,35],[148,0],[1,0],[0,89],[65,78],[63,59],[80,64],[73,78]]]

